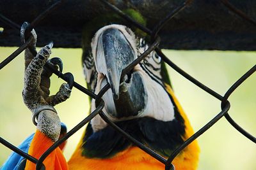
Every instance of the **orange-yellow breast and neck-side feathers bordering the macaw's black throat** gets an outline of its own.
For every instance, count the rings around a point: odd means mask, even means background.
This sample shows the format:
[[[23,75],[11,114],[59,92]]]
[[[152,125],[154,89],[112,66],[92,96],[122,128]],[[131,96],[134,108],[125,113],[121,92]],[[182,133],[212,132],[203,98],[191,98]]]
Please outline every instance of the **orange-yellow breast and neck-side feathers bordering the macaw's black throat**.
[[[180,115],[185,121],[185,136],[184,139],[188,139],[194,134],[188,117],[182,110],[179,101],[173,94],[173,90],[169,85],[166,85],[166,90],[173,97],[175,104],[179,110]],[[70,170],[144,170],[144,169],[164,169],[164,164],[154,159],[147,153],[143,152],[140,148],[130,147],[123,152],[117,153],[115,157],[109,159],[89,159],[82,156],[81,147],[83,145],[83,138],[81,139],[76,151],[73,153],[71,159],[68,161],[68,167]],[[199,147],[197,141],[193,141],[183,152],[179,153],[173,160],[175,169],[177,170],[195,170],[198,166]]]

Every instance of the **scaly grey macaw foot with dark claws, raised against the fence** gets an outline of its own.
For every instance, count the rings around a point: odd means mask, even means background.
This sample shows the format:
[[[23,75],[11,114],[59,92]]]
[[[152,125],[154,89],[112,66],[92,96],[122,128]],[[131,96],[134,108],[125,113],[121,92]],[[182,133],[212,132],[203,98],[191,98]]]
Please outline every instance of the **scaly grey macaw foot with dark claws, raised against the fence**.
[[[53,43],[49,43],[49,45],[44,46],[35,57],[29,60],[28,66],[25,65],[22,97],[26,106],[33,113],[33,122],[36,124],[36,128],[51,138],[52,141],[57,141],[60,136],[61,124],[53,106],[66,101],[70,97],[74,77],[71,73],[64,74],[68,83],[63,83],[55,95],[49,96],[52,72],[45,67],[45,64],[49,62],[55,67],[58,66],[60,74],[63,68],[61,59],[48,60],[52,45]]]

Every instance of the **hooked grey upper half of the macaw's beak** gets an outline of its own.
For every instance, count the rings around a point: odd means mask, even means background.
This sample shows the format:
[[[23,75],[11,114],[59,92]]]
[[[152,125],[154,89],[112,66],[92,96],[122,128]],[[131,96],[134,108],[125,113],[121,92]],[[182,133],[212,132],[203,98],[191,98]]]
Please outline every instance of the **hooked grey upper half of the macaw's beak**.
[[[136,59],[136,52],[120,30],[109,28],[99,36],[96,55],[97,69],[106,75],[113,98],[117,100],[122,71]]]

